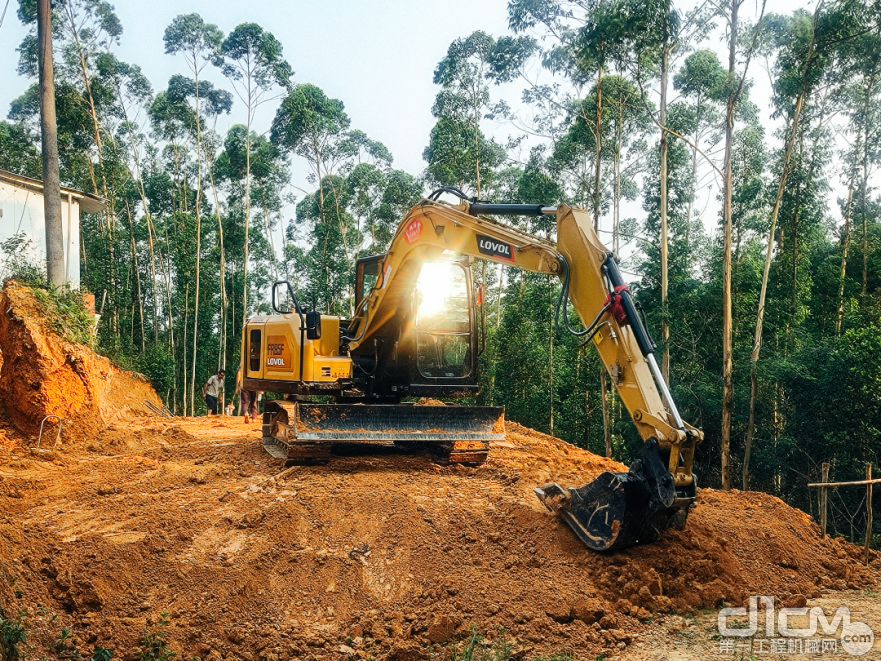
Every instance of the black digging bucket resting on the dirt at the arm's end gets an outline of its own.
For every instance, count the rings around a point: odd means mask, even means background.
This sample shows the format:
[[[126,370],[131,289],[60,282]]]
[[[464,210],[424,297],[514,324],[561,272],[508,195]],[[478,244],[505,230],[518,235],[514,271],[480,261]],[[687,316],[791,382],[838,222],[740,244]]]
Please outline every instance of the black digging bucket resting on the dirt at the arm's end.
[[[696,490],[694,482],[685,489],[674,487],[658,441],[650,438],[626,473],[606,471],[590,484],[568,490],[552,482],[535,493],[585,546],[612,551],[653,542],[667,528],[681,530]]]

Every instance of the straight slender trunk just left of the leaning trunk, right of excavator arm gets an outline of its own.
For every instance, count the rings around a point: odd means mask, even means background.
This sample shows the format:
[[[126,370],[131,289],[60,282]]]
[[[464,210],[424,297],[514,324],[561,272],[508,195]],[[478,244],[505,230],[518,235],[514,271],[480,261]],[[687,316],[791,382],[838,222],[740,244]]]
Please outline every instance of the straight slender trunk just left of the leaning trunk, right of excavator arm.
[[[737,10],[742,0],[731,3],[730,43],[728,48],[728,79],[734,81],[737,64]],[[734,108],[737,93],[728,96],[725,109],[725,174],[723,204],[723,255],[722,255],[722,434],[720,444],[722,488],[731,488],[729,462],[731,459],[731,402],[733,387],[734,329],[731,309],[731,154],[734,146]]]

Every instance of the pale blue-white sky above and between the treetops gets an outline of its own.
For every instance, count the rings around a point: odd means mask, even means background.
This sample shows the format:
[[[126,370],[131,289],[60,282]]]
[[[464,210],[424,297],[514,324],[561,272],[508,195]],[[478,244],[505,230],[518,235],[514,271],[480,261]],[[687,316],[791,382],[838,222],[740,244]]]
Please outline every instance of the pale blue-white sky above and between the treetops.
[[[695,1],[677,5],[687,10]],[[0,4],[4,3],[0,0]],[[17,7],[18,0],[9,0],[0,26],[2,115],[28,85],[26,79],[15,74],[15,49],[27,33],[16,16]],[[759,7],[757,0],[747,0],[741,18],[754,18]],[[812,10],[810,0],[774,0],[767,11],[785,13],[798,7]],[[115,8],[124,32],[114,50],[120,59],[141,66],[154,91],[164,89],[171,75],[188,73],[180,56],[164,53],[162,36],[175,16],[197,12],[224,33],[242,22],[260,24],[282,43],[284,55],[295,71],[296,83],[315,84],[328,96],[341,99],[352,128],[384,143],[394,156],[394,167],[411,174],[420,173],[426,165],[422,152],[434,125],[431,106],[438,92],[432,76],[450,43],[474,30],[496,37],[508,33],[506,0],[116,0]],[[723,63],[727,63],[722,30],[717,30],[702,47],[717,50]],[[754,81],[752,98],[759,105],[768,139],[774,145],[776,122],[770,119],[771,89],[760,65],[754,61],[750,69]],[[216,69],[209,68],[202,75],[229,88]],[[494,99],[504,98],[516,109],[520,87],[511,84],[502,89],[492,88],[491,94]],[[256,130],[268,130],[277,103],[269,102],[259,108]],[[220,118],[218,129],[224,133],[229,126],[244,120],[244,109],[237,102],[231,115]],[[503,143],[509,134],[517,133],[506,122],[487,121],[484,130]],[[305,176],[305,164],[295,160],[292,183],[309,188]],[[697,203],[698,208],[705,206],[708,210],[704,217],[710,231],[715,229],[717,215],[713,213],[717,204],[714,189],[712,184],[706,188],[703,201]],[[293,209],[288,212],[288,217],[291,215]],[[642,215],[639,202],[629,203],[623,209],[623,217]]]

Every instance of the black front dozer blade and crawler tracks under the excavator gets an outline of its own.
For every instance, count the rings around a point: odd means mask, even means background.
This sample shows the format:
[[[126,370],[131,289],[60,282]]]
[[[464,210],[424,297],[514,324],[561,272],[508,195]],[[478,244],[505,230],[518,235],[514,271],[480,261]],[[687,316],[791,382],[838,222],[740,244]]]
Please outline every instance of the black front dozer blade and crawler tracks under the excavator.
[[[269,402],[263,447],[288,466],[323,464],[334,443],[427,446],[441,463],[483,463],[505,438],[504,407]]]

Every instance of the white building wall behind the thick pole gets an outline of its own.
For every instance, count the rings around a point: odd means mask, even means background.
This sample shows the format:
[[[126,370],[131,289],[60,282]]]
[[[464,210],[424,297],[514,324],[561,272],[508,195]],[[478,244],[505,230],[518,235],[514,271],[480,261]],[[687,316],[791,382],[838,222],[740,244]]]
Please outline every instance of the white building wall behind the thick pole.
[[[61,225],[64,232],[64,272],[72,289],[80,286],[80,205],[70,193],[61,193]],[[46,270],[46,222],[43,195],[0,180],[0,243],[23,234],[27,243],[19,254]],[[0,252],[0,269],[7,256]],[[4,276],[6,273],[3,274]]]

